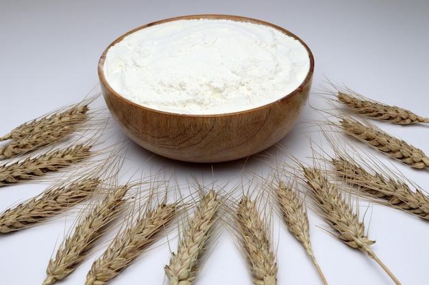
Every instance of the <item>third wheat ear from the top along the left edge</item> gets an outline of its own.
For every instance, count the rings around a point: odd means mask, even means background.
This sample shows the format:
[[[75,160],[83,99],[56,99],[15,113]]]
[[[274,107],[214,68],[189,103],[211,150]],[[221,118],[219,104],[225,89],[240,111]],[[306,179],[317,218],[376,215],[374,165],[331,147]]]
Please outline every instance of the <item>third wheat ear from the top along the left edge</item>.
[[[91,157],[90,148],[91,146],[86,144],[77,144],[40,154],[38,157],[27,158],[9,165],[1,165],[0,187],[34,179],[45,175],[47,172],[55,172],[62,167],[79,163]]]

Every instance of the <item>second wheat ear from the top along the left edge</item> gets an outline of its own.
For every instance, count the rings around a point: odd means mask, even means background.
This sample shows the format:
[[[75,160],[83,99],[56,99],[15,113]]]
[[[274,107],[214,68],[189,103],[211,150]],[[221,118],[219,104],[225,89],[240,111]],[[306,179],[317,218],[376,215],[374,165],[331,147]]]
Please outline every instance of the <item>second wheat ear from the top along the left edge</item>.
[[[33,150],[48,146],[49,144],[58,143],[66,139],[68,135],[75,131],[75,126],[58,126],[49,131],[40,131],[39,133],[30,134],[27,137],[21,137],[5,146],[0,147],[0,160],[11,159],[20,154],[25,154]]]

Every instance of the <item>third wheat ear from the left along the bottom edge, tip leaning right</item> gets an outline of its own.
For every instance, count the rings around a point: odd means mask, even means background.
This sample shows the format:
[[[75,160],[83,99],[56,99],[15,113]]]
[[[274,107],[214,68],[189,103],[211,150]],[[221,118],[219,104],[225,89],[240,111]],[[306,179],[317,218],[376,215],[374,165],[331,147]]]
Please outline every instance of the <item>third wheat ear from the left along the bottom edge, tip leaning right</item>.
[[[179,240],[177,254],[172,254],[165,269],[170,285],[193,284],[199,269],[199,260],[208,241],[219,209],[217,193],[210,190],[201,198],[193,219],[188,221],[183,237]]]

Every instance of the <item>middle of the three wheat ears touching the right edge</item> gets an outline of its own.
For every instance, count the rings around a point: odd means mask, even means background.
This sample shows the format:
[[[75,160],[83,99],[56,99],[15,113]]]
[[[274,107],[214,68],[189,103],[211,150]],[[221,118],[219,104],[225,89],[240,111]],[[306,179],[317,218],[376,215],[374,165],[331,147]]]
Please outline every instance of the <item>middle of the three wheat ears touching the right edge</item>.
[[[429,167],[429,157],[426,157],[422,150],[385,133],[373,124],[364,125],[357,120],[343,118],[340,120],[339,126],[347,135],[401,161],[405,165],[419,169]]]

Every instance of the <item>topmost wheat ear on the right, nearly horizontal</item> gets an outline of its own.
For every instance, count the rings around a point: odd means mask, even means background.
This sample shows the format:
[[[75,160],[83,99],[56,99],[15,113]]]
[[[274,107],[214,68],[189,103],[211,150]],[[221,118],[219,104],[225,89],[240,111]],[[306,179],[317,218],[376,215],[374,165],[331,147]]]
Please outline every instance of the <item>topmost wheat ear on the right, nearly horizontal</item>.
[[[373,120],[383,120],[394,124],[429,123],[429,118],[417,116],[400,107],[371,100],[351,90],[338,91],[336,98],[354,113]]]

